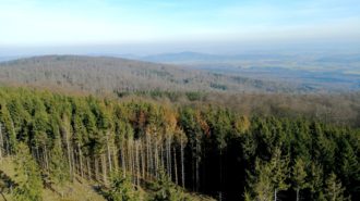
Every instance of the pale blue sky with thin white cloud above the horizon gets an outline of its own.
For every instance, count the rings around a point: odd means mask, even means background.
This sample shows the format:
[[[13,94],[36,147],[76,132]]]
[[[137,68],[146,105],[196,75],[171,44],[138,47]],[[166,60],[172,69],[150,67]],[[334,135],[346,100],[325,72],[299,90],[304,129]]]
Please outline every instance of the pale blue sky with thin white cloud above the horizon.
[[[236,52],[312,43],[360,43],[360,1],[0,0],[0,56],[20,50]]]

